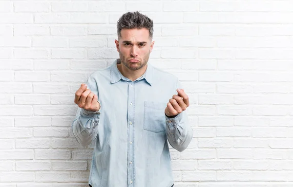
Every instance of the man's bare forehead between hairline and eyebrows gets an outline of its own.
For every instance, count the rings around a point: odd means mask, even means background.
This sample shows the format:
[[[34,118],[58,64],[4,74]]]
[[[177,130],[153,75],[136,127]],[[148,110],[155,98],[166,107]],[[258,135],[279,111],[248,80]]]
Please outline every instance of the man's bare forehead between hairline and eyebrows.
[[[121,38],[131,40],[146,40],[149,37],[149,32],[146,28],[142,29],[122,29]]]

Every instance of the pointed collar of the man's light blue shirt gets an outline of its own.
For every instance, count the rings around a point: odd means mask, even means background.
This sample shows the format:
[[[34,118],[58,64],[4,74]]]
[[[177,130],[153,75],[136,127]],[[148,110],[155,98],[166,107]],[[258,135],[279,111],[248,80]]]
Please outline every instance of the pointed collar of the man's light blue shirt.
[[[126,78],[121,74],[121,72],[117,68],[117,64],[120,64],[121,60],[120,58],[117,58],[111,65],[111,83],[116,83],[120,79],[129,81],[130,79]],[[137,78],[136,80],[145,79],[146,82],[152,86],[152,77],[153,77],[153,66],[150,63],[147,63],[146,72],[141,77]],[[131,80],[130,80],[131,81]]]

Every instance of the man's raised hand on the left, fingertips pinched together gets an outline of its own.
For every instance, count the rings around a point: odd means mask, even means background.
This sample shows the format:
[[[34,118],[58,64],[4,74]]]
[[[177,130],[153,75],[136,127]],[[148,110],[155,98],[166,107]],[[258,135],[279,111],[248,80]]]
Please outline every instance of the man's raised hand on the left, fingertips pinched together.
[[[82,84],[80,89],[76,91],[74,103],[87,111],[96,112],[99,111],[101,107],[98,102],[98,96],[87,89],[86,84]]]

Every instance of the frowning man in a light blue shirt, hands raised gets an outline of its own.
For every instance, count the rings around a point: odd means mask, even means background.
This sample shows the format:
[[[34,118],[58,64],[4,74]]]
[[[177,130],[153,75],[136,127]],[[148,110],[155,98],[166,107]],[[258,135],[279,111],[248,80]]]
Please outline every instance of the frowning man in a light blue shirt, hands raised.
[[[75,94],[77,141],[94,151],[90,187],[172,187],[169,144],[188,147],[188,95],[178,78],[147,64],[153,22],[128,12],[117,22],[120,58],[90,75]]]

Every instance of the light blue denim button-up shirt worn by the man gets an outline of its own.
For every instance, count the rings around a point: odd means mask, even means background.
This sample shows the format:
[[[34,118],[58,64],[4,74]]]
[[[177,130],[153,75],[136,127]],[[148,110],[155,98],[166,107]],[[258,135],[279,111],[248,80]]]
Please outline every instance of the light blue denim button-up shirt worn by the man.
[[[187,112],[174,118],[165,108],[178,78],[147,64],[131,81],[117,68],[120,59],[87,80],[98,95],[98,112],[78,108],[72,130],[82,146],[92,143],[92,187],[171,187],[174,184],[168,143],[183,151],[192,139]],[[187,109],[188,110],[188,109]]]

